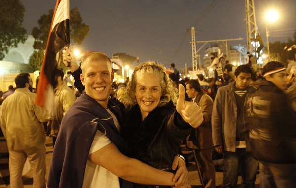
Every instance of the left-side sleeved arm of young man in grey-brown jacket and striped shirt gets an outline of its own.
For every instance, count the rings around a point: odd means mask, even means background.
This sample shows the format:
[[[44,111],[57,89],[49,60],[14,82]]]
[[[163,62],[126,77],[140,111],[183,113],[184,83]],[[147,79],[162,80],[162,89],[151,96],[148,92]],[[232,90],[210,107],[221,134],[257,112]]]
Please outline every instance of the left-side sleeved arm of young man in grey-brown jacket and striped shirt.
[[[216,147],[217,152],[222,152],[222,145],[223,145],[223,138],[222,138],[222,93],[221,89],[219,88],[216,94],[216,98],[213,105],[213,112],[212,112],[212,137],[213,143]]]

